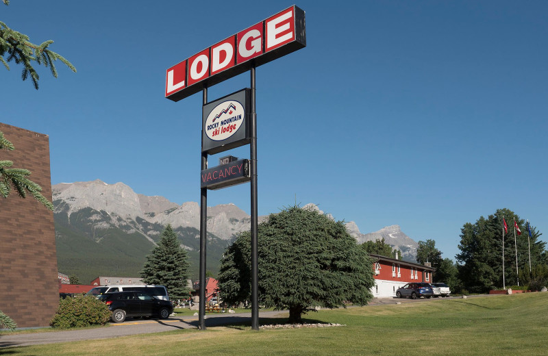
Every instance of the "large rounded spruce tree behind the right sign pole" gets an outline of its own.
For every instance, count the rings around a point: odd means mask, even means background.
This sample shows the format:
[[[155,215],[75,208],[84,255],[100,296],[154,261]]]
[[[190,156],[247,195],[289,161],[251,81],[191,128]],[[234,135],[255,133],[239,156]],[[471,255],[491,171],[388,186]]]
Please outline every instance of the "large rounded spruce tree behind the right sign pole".
[[[372,298],[373,262],[342,222],[289,207],[258,225],[259,303],[289,309],[290,322],[314,307]],[[221,260],[219,290],[230,304],[251,300],[251,234],[242,233]]]

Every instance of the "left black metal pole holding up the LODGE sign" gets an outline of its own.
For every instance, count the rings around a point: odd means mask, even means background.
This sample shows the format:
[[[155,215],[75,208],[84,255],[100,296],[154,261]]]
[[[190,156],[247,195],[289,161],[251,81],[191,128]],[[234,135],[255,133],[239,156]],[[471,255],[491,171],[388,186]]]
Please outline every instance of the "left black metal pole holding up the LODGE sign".
[[[203,88],[203,105],[208,103],[208,88]],[[201,170],[208,169],[208,153],[201,153]],[[200,188],[200,292],[198,329],[206,330],[206,246],[208,245],[208,189]]]

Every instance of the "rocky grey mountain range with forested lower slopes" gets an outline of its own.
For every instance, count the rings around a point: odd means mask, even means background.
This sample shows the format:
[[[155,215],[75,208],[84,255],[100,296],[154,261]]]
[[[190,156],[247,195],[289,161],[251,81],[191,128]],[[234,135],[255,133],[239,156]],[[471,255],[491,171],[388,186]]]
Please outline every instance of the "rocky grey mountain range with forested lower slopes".
[[[200,244],[200,207],[178,205],[163,196],[136,194],[124,183],[95,181],[60,183],[52,187],[58,269],[88,283],[99,275],[139,277],[146,256],[171,224],[188,251],[190,277],[197,279]],[[317,209],[315,205],[311,205]],[[259,222],[266,216],[260,216]],[[418,244],[398,225],[360,233],[356,223],[347,229],[359,243],[384,238],[414,261]],[[251,218],[234,204],[208,207],[207,266],[213,275],[225,248],[236,234],[249,230]]]

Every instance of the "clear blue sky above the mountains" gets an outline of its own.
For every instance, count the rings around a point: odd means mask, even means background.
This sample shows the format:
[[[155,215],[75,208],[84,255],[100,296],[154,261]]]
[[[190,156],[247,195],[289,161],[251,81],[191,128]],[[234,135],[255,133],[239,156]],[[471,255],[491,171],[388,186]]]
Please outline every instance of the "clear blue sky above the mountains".
[[[101,179],[199,201],[201,93],[165,71],[288,8],[284,1],[23,1],[0,21],[77,68],[0,68],[0,121],[47,133],[52,183]],[[546,1],[299,1],[307,47],[257,68],[258,209],[316,203],[362,233],[400,225],[458,253],[507,207],[548,240]],[[249,86],[244,73],[209,99]],[[249,146],[210,156],[249,158]],[[249,214],[249,184],[208,205]]]

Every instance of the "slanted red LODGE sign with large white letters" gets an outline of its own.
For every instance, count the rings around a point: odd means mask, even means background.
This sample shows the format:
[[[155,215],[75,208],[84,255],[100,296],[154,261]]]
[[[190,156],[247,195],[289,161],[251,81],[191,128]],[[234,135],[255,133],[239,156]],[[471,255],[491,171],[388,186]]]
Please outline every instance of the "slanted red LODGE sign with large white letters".
[[[306,47],[305,13],[293,5],[166,71],[166,98],[179,101]]]

